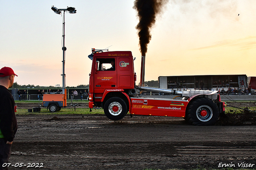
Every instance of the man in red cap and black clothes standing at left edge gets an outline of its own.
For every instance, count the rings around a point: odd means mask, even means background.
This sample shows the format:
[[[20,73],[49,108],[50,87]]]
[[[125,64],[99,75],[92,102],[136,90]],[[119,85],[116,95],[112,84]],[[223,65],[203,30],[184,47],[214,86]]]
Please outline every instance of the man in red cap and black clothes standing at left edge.
[[[0,69],[0,170],[8,170],[5,165],[10,158],[12,141],[18,128],[14,99],[8,90],[13,85],[14,76],[18,75],[12,68]]]

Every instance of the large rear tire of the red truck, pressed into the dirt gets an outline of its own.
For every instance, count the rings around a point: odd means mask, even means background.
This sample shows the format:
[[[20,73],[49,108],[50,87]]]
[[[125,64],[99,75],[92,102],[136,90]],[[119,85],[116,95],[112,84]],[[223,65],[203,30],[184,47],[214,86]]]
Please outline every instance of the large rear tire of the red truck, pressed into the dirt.
[[[186,109],[186,121],[190,125],[210,126],[214,125],[220,115],[218,106],[212,100],[200,97],[196,98]]]

